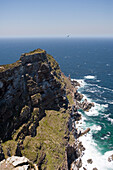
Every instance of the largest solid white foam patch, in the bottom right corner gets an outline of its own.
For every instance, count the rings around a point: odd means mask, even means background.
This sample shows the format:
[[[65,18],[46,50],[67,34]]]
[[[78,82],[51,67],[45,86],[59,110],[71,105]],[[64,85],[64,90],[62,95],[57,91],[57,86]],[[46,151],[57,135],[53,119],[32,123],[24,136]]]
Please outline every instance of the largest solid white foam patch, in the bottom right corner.
[[[98,151],[97,146],[92,141],[90,134],[81,137],[80,140],[82,141],[83,146],[86,148],[84,155],[82,156],[82,167],[80,169],[83,169],[83,167],[85,167],[87,170],[92,170],[93,168],[97,168],[98,170],[112,169],[113,162],[108,162],[108,154],[102,155]],[[88,159],[92,159],[93,163],[88,164]]]

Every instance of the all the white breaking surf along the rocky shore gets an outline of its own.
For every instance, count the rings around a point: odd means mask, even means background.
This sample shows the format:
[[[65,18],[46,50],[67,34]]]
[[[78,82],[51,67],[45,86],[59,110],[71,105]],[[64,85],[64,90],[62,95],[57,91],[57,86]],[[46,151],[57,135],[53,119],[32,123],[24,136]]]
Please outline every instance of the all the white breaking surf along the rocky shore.
[[[85,79],[96,79],[96,76],[85,76]],[[85,82],[85,79],[79,79],[77,80],[80,83],[80,87],[78,87],[79,92],[84,92],[85,88],[88,87],[90,84]],[[97,81],[96,81],[97,82]],[[94,84],[95,85],[95,84]],[[99,86],[99,89],[101,86]],[[103,87],[102,87],[103,88]],[[105,90],[108,90],[107,88]],[[77,129],[83,129],[85,130],[87,127],[89,127],[91,130],[88,134],[85,136],[82,136],[79,138],[79,140],[83,143],[83,146],[86,148],[83,156],[82,156],[82,167],[81,170],[86,168],[87,170],[91,170],[93,168],[97,168],[99,170],[113,170],[113,161],[109,162],[108,157],[113,154],[113,150],[106,151],[104,154],[101,152],[101,148],[99,148],[96,140],[93,139],[93,134],[97,134],[99,131],[102,131],[102,126],[99,124],[96,124],[94,122],[93,124],[90,121],[90,117],[95,116],[98,117],[99,115],[106,117],[108,121],[113,123],[113,119],[110,119],[110,114],[107,115],[104,114],[104,112],[108,109],[109,105],[108,103],[99,104],[95,101],[93,101],[87,94],[83,94],[84,99],[86,98],[89,102],[94,102],[94,107],[92,107],[89,112],[83,112],[80,111],[82,114],[82,120],[79,121],[79,123],[76,125]],[[93,118],[92,118],[93,119]],[[98,119],[98,118],[97,118]],[[110,132],[109,132],[110,134]],[[104,139],[105,140],[105,139]],[[88,160],[92,159],[92,164],[88,163]],[[84,167],[84,168],[83,168]]]

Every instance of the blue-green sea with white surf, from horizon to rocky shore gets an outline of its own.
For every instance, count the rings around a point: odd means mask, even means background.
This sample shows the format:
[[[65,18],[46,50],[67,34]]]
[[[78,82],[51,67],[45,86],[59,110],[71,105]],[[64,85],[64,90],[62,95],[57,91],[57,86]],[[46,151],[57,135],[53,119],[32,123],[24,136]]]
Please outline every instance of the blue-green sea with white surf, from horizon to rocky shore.
[[[91,128],[81,140],[88,158],[94,158],[93,166],[99,170],[113,169],[113,163],[107,161],[113,154],[113,39],[1,38],[0,65],[15,62],[22,53],[37,48],[53,55],[64,74],[80,82],[78,91],[84,98],[94,102],[89,112],[79,110],[82,124],[78,128]],[[92,169],[92,165],[87,169]]]

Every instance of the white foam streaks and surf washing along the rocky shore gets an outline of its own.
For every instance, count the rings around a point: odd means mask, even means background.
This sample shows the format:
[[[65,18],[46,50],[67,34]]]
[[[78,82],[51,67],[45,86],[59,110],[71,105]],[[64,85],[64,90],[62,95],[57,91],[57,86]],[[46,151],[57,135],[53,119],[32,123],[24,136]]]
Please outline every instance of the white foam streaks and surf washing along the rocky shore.
[[[86,77],[87,78],[87,77]],[[89,77],[90,78],[90,77]],[[95,77],[92,77],[93,79]],[[77,80],[78,81],[78,80]],[[82,86],[90,86],[90,84],[87,84],[84,80],[84,85]],[[101,87],[98,85],[95,85],[98,88],[104,88],[105,90],[110,90],[105,87]],[[79,89],[78,89],[79,90]],[[88,98],[88,95],[83,94],[83,99],[87,99],[88,102],[93,102],[90,98]],[[98,104],[94,102],[94,107],[92,107],[89,112],[84,112],[88,116],[98,116],[99,114],[104,114],[104,111],[108,108],[108,104]],[[81,113],[82,114],[82,113]],[[113,123],[113,119],[109,118],[108,115],[103,115],[106,116],[106,118]],[[79,121],[79,123],[76,125],[76,127],[80,130],[84,130],[88,127],[87,123],[85,122],[87,120],[87,117],[82,114],[82,120]],[[95,141],[92,138],[93,133],[97,133],[98,131],[101,130],[100,125],[89,125],[89,128],[91,129],[90,132],[88,132],[86,135],[83,135],[79,138],[79,140],[82,142],[83,146],[86,148],[84,151],[84,154],[82,155],[82,167],[80,170],[84,170],[86,168],[87,170],[92,170],[93,168],[97,168],[98,170],[113,170],[113,161],[109,162],[108,157],[113,154],[113,151],[106,152],[104,155],[101,154],[101,152],[98,149],[98,145],[95,143]],[[108,138],[109,134],[106,136]],[[105,138],[103,138],[105,140]],[[88,159],[92,159],[93,163],[89,164],[87,162]]]

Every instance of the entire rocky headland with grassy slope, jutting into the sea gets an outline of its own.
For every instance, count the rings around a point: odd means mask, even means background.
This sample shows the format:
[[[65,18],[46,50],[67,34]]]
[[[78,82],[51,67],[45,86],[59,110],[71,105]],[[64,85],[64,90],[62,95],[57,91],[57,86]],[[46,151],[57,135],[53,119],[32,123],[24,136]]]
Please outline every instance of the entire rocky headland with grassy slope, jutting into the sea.
[[[37,49],[0,66],[0,167],[79,169],[85,150],[78,109],[94,106],[78,93],[79,83],[61,72],[46,51]],[[15,163],[16,162],[16,163]],[[91,161],[89,161],[91,163]]]

